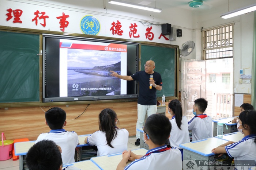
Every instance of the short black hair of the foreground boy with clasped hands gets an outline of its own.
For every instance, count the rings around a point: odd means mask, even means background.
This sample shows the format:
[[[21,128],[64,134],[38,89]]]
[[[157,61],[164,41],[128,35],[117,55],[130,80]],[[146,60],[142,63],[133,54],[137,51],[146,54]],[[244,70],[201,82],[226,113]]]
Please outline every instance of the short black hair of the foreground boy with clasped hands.
[[[172,125],[165,115],[153,114],[147,118],[144,130],[154,144],[163,145],[169,138]]]

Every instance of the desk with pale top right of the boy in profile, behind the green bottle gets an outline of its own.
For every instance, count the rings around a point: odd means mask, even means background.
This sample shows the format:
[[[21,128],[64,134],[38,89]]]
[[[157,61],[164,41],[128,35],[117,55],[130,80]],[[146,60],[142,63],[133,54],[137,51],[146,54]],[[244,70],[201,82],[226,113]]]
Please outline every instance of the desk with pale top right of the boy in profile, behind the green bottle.
[[[222,119],[214,119],[213,122],[213,136],[217,136],[217,127],[218,122],[225,123],[227,125],[223,124],[223,134],[230,134],[233,132],[237,132],[237,123],[232,123],[231,121],[234,119],[234,117],[227,117]]]

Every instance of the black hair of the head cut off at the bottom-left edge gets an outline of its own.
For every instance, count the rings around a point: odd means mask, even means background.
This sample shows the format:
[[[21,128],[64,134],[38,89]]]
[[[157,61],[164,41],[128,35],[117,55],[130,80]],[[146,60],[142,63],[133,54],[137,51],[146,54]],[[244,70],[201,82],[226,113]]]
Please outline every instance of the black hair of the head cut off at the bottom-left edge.
[[[34,144],[26,155],[29,170],[59,170],[62,165],[59,147],[52,140]]]

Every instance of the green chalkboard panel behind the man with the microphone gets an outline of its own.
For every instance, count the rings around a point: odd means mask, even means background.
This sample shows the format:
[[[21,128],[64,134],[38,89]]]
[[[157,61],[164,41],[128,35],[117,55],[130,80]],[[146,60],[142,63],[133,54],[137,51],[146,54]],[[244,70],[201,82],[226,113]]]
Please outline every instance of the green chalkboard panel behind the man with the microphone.
[[[176,56],[176,48],[141,45],[141,70],[144,70],[144,64],[148,60],[153,60],[154,71],[160,73],[162,77],[162,90],[157,90],[157,97],[162,97],[163,94],[166,97],[177,97]]]

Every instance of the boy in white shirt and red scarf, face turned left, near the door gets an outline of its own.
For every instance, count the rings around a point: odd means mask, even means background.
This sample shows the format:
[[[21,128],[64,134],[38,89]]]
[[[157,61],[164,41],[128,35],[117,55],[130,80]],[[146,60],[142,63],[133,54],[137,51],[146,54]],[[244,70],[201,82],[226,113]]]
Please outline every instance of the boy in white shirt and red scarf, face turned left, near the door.
[[[212,137],[212,118],[204,114],[208,101],[204,98],[198,98],[193,105],[193,117],[188,122],[188,130],[192,130],[192,141]]]

